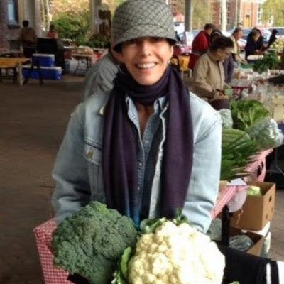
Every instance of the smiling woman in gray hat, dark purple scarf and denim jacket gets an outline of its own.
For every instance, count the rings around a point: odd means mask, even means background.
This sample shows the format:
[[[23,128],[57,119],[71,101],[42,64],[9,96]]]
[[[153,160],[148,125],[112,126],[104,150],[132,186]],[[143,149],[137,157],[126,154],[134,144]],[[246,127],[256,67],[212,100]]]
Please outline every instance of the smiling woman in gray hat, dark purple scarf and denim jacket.
[[[123,67],[111,92],[89,97],[72,114],[53,169],[55,217],[60,222],[91,200],[136,225],[182,208],[206,232],[219,185],[219,114],[168,64],[175,31],[165,3],[125,1],[112,28]]]

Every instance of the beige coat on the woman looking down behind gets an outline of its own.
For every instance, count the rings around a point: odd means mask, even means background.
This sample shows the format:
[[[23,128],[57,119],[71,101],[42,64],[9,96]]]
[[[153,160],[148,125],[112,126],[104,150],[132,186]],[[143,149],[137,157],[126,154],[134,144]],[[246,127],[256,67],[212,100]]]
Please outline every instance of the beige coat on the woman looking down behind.
[[[224,88],[225,75],[223,62],[208,50],[200,56],[193,70],[190,90],[198,97],[212,98],[217,89]]]

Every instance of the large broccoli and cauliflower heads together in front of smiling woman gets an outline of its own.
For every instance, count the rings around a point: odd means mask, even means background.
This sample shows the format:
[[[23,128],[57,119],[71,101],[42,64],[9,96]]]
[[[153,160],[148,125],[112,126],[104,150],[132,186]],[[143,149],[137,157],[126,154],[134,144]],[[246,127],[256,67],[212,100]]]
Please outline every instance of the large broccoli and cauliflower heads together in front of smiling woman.
[[[175,219],[131,219],[91,202],[53,233],[54,264],[90,284],[221,284],[224,256],[209,236]],[[112,280],[112,281],[111,281]]]

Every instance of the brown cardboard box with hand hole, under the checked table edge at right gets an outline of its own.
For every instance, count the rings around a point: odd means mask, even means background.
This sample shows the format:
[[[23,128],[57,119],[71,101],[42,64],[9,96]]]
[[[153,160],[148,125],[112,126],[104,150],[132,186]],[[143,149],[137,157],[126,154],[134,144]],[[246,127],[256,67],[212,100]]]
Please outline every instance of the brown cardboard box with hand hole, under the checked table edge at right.
[[[242,209],[234,212],[231,225],[241,229],[258,231],[271,221],[275,209],[275,183],[248,182],[261,187],[262,196],[248,195]]]

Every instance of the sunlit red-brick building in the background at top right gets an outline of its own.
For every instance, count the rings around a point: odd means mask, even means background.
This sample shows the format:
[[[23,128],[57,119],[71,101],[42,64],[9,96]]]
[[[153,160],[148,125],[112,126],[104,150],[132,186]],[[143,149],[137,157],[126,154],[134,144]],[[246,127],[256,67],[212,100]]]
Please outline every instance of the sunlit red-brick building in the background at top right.
[[[227,29],[236,26],[262,27],[262,4],[265,0],[226,0]],[[212,22],[221,25],[221,1],[210,0]]]

